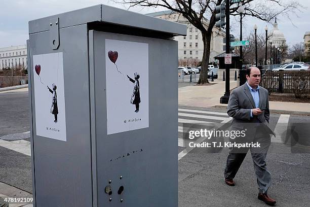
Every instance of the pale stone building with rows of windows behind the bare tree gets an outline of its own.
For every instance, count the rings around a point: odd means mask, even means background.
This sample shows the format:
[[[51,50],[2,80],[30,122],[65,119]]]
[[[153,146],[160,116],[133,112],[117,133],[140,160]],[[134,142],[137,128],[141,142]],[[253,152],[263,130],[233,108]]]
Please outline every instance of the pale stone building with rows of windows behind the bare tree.
[[[192,65],[193,62],[198,63],[202,61],[203,51],[204,51],[204,43],[202,40],[201,31],[193,26],[189,21],[180,15],[177,12],[173,11],[162,11],[146,14],[149,16],[165,19],[168,21],[174,21],[181,24],[187,25],[187,36],[182,37],[178,36],[174,39],[178,41],[179,45],[179,60],[189,60],[188,66],[196,66]],[[204,24],[208,26],[209,21],[204,19]],[[211,37],[211,47],[210,47],[210,59],[209,62],[214,62],[214,57],[223,53],[223,39],[225,38],[225,32],[219,30],[214,27],[212,29],[212,37]],[[193,61],[191,61],[193,60]]]

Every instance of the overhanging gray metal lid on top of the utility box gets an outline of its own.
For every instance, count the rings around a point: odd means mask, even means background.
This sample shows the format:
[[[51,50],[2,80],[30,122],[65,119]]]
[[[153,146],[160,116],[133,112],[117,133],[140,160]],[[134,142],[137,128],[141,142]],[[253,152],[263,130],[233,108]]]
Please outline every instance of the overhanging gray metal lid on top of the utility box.
[[[50,30],[49,22],[55,18],[59,18],[59,28],[87,24],[90,22],[105,22],[133,28],[166,32],[173,34],[173,36],[186,36],[186,25],[106,5],[96,5],[29,21],[29,34]]]

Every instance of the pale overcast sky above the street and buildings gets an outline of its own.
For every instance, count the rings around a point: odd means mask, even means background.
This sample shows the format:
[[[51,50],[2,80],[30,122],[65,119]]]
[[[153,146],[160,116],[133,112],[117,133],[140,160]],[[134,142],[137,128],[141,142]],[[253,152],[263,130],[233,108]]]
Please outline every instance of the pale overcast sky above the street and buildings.
[[[307,7],[303,13],[291,15],[292,22],[284,17],[279,17],[278,27],[284,33],[289,46],[303,42],[303,35],[310,31],[310,1],[296,0]],[[122,4],[115,4],[111,0],[1,0],[0,12],[0,48],[24,45],[28,39],[28,21],[59,14],[71,10],[81,9],[97,4],[106,4],[113,7],[126,9]],[[163,8],[140,8],[131,9],[131,11],[141,14],[163,11]],[[231,18],[233,25],[232,32],[239,37],[239,18]],[[258,25],[258,32],[264,33],[265,22],[251,17],[244,19],[243,36],[253,30],[254,24]],[[267,24],[271,30],[273,26]]]

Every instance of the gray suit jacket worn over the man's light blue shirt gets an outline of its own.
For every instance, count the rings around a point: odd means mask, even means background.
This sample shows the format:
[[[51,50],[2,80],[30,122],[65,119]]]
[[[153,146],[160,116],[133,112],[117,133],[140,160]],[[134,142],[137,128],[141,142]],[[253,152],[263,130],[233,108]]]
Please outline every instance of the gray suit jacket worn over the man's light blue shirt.
[[[248,123],[262,123],[262,126],[266,129],[264,132],[268,134],[275,133],[269,128],[269,100],[268,91],[259,86],[259,109],[265,109],[260,115],[251,118],[251,109],[255,109],[255,102],[252,94],[245,83],[244,85],[231,91],[227,114],[234,118],[231,126],[239,129],[243,129]]]

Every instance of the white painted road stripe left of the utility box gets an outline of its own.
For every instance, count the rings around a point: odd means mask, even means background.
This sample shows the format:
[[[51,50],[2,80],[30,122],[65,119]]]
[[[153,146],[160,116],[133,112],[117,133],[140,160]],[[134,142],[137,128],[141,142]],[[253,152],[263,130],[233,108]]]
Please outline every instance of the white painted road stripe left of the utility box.
[[[0,146],[31,156],[30,142],[25,140],[16,140],[12,142],[0,140]]]

